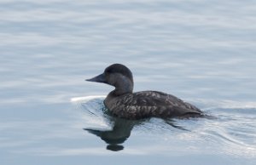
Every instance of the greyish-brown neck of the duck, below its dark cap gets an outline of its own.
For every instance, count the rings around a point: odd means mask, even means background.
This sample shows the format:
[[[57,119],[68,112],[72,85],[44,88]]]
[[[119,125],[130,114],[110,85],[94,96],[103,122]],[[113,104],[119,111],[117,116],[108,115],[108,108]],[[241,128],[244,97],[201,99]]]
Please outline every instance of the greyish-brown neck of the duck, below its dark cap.
[[[123,94],[132,94],[133,90],[133,81],[127,78],[123,78],[117,83],[114,84],[115,89],[111,92],[116,96],[123,95]]]

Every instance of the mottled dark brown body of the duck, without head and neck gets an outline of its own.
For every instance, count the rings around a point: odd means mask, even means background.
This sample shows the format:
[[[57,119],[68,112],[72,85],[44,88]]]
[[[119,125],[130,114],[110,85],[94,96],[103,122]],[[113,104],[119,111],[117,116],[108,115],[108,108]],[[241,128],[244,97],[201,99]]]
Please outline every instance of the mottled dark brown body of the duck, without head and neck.
[[[194,105],[171,94],[143,91],[114,97],[108,94],[104,104],[117,117],[138,119],[145,117],[194,117],[202,112]]]

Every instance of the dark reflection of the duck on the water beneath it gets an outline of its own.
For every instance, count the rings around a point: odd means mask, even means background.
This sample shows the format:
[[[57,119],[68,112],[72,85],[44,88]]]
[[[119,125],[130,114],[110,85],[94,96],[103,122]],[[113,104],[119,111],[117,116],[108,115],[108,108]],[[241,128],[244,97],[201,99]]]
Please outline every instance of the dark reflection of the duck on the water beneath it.
[[[113,120],[112,130],[99,130],[93,128],[84,128],[84,130],[88,131],[90,134],[95,134],[96,136],[104,140],[108,144],[107,149],[111,151],[123,150],[124,146],[121,144],[123,144],[125,140],[130,137],[132,128],[145,122],[143,120],[126,120],[122,118],[108,117],[106,119]],[[180,126],[177,126],[172,120],[165,120],[165,122],[173,128],[186,130]]]

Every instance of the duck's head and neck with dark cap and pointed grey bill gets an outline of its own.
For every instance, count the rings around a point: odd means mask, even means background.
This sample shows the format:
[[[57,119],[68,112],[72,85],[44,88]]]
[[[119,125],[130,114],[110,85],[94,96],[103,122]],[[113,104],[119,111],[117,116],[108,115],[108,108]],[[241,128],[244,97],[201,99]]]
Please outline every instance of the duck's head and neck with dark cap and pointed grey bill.
[[[109,65],[105,71],[93,78],[87,79],[89,82],[108,83],[115,87],[115,94],[132,93],[133,78],[131,71],[121,64]]]

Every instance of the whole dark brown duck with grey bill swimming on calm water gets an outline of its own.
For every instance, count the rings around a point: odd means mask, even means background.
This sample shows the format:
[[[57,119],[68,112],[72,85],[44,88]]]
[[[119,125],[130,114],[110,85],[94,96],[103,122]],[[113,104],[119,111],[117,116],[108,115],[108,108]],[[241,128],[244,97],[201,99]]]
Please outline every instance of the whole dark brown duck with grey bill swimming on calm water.
[[[147,90],[133,92],[133,76],[128,67],[122,64],[109,65],[105,71],[89,82],[107,83],[114,87],[103,101],[114,117],[137,120],[148,117],[202,117],[203,112],[195,105],[172,94]]]

